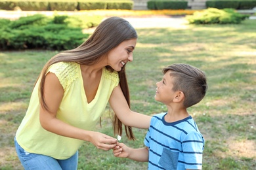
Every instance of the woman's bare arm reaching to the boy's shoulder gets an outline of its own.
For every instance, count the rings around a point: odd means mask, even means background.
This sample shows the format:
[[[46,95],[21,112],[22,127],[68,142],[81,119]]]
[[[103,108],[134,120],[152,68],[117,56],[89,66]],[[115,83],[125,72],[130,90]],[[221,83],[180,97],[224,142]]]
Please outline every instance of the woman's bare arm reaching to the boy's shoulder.
[[[148,129],[150,126],[151,116],[133,112],[125,100],[125,96],[118,85],[114,88],[110,100],[110,106],[114,110],[117,118],[123,122],[126,126],[137,127],[142,129]]]

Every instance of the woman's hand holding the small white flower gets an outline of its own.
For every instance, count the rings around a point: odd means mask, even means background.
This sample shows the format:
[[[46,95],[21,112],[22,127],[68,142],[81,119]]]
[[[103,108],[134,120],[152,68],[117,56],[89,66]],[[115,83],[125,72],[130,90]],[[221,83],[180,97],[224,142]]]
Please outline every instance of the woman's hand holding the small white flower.
[[[117,139],[97,131],[91,131],[89,142],[102,150],[110,150],[117,145]]]

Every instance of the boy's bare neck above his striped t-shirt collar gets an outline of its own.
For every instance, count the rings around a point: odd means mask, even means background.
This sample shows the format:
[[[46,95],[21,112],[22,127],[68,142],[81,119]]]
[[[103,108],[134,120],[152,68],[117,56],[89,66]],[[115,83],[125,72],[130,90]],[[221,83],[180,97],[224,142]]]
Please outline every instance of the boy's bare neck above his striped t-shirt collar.
[[[172,123],[187,118],[189,116],[186,109],[169,109],[165,115],[165,121]]]

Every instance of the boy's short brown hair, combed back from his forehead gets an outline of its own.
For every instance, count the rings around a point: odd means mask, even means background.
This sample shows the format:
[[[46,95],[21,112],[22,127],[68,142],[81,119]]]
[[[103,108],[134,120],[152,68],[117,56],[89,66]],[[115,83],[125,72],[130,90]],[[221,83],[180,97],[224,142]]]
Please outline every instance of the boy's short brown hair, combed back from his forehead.
[[[163,68],[163,74],[171,71],[174,77],[173,91],[184,93],[184,107],[188,108],[199,103],[207,91],[208,85],[203,71],[184,63],[175,63]]]

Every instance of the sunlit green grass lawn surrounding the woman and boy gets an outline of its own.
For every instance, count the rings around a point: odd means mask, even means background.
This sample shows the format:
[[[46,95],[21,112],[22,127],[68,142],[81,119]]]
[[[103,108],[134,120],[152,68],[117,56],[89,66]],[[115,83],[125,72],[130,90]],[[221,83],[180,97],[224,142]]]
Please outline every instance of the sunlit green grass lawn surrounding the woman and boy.
[[[205,71],[207,95],[188,109],[205,138],[203,169],[256,169],[256,20],[239,25],[187,25],[137,29],[134,61],[127,65],[131,107],[152,115],[165,112],[154,101],[161,69],[188,63]],[[28,107],[34,81],[57,52],[0,52],[0,169],[22,169],[13,138]],[[108,109],[98,131],[113,135]],[[134,129],[143,146],[146,129]],[[79,169],[146,169],[147,163],[115,158],[90,143],[79,149]]]

